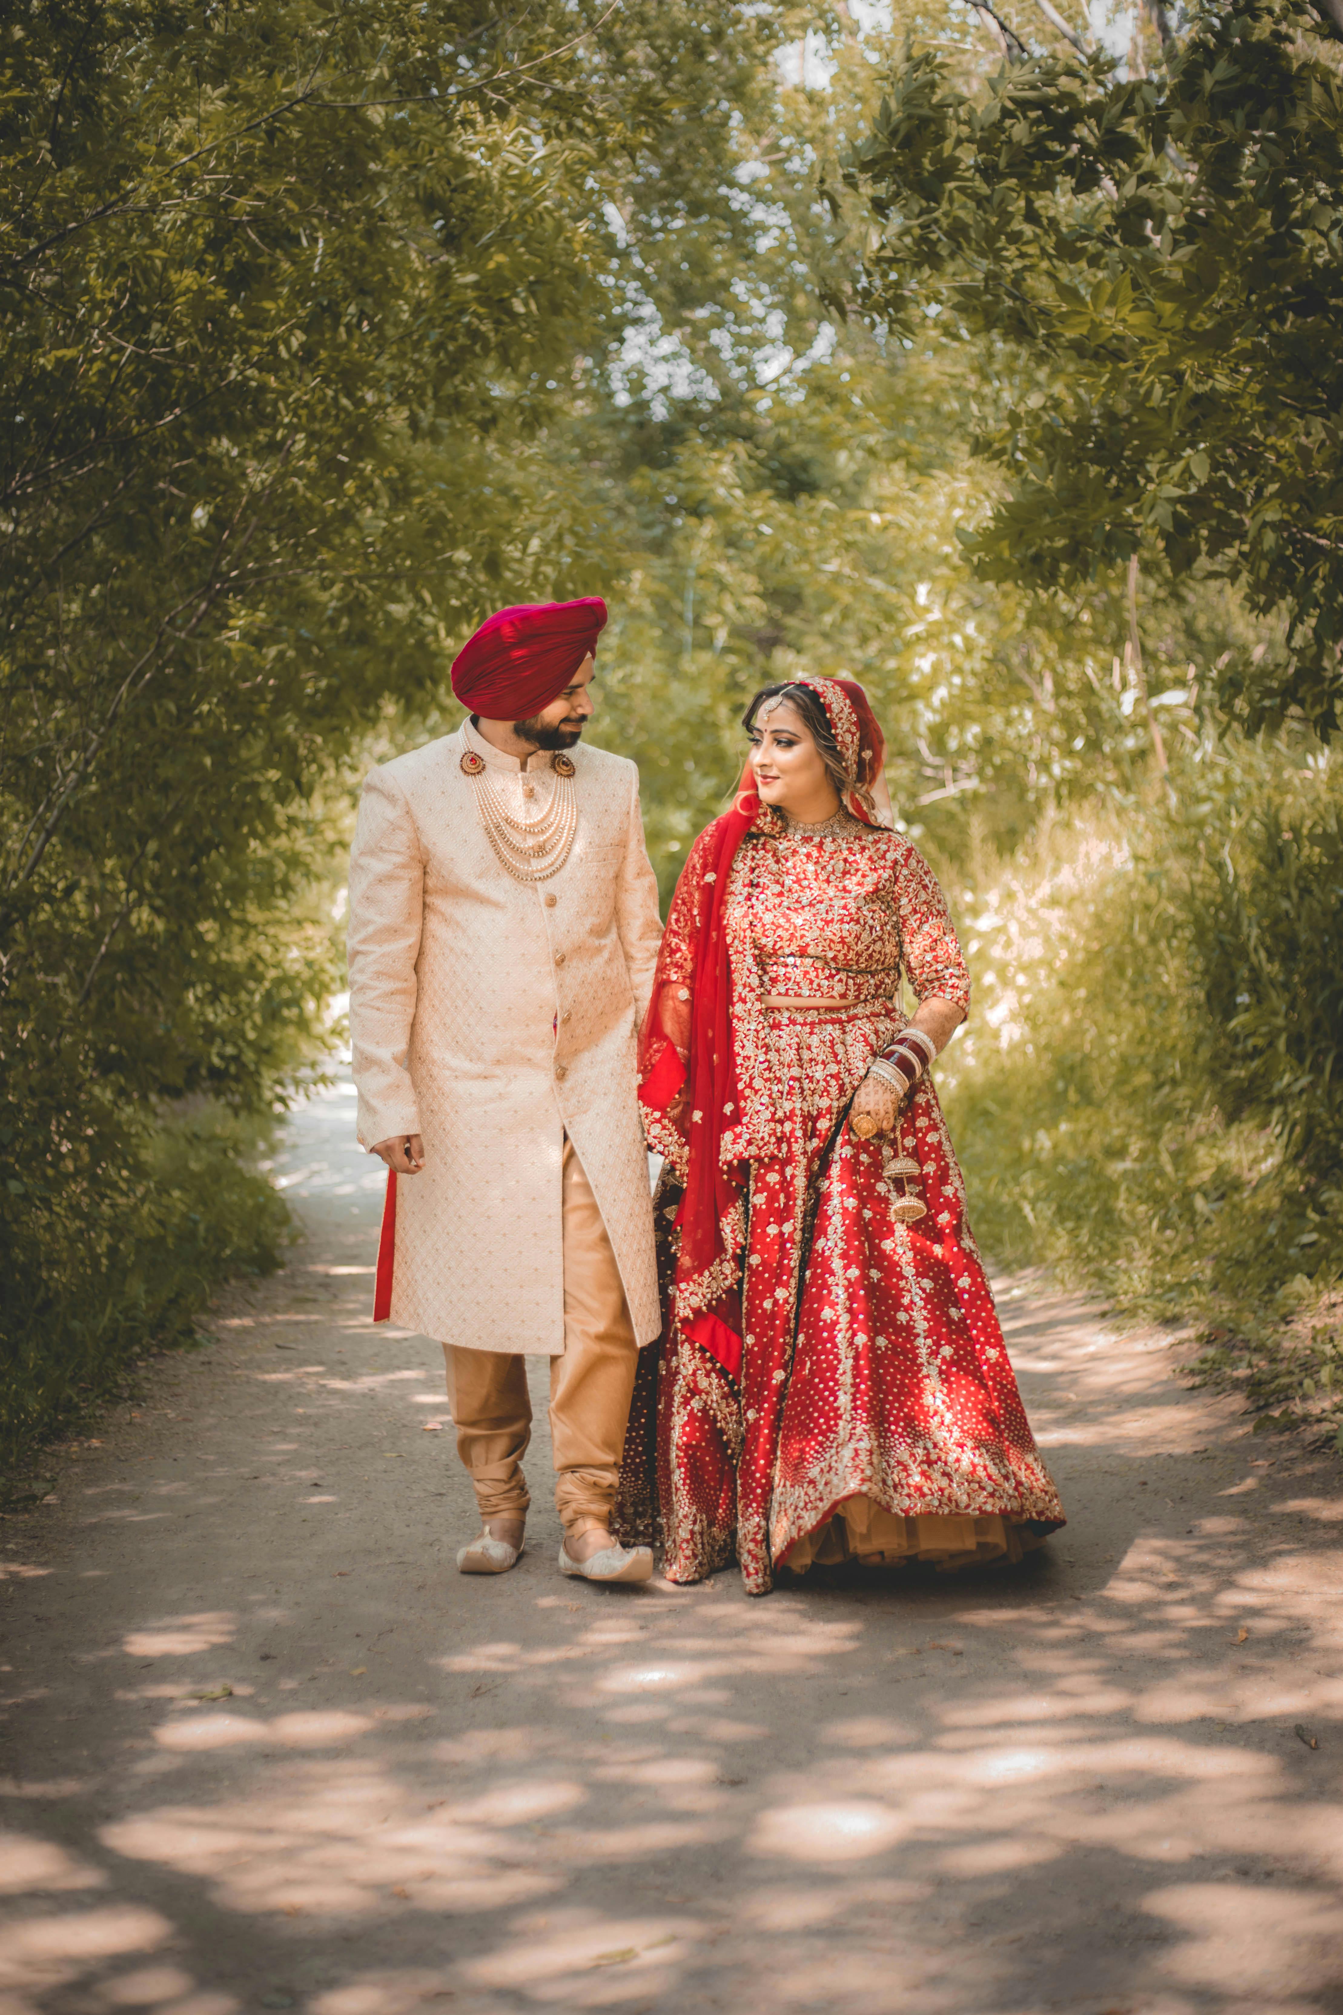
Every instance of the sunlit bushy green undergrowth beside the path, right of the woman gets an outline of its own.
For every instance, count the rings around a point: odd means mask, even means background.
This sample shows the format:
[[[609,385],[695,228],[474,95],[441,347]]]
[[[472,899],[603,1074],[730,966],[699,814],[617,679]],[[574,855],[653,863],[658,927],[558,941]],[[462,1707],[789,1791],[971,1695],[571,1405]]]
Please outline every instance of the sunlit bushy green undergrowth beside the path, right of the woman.
[[[1194,1322],[1260,1404],[1343,1278],[1341,810],[1327,758],[1232,740],[1176,808],[1043,828],[975,891],[948,1060],[981,1237]]]

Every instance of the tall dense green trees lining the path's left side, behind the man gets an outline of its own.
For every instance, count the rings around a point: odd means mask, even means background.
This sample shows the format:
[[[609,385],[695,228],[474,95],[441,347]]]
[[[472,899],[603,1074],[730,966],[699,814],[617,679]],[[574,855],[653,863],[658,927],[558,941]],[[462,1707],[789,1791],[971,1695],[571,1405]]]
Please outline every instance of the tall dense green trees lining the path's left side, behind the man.
[[[155,1114],[268,1112],[320,1046],[346,764],[393,695],[439,689],[451,635],[546,592],[542,425],[576,353],[677,266],[668,214],[731,234],[715,149],[773,32],[745,0],[6,12],[0,1265],[32,1282],[6,1298],[20,1410],[56,1306],[103,1340],[81,1364],[177,1322],[137,1288]],[[117,1221],[129,1243],[54,1304],[77,1211],[93,1245]]]

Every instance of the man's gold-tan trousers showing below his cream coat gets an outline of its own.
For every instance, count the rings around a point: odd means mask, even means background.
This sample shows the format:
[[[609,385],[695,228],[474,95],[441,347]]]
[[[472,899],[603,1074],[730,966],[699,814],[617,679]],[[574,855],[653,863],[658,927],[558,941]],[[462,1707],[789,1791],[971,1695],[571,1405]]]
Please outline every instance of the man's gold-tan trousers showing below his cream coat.
[[[592,1185],[564,1136],[564,1356],[550,1360],[556,1505],[566,1533],[606,1525],[616,1501],[638,1346],[620,1269]],[[447,1398],[481,1517],[532,1503],[521,1457],[532,1441],[528,1360],[443,1346]]]

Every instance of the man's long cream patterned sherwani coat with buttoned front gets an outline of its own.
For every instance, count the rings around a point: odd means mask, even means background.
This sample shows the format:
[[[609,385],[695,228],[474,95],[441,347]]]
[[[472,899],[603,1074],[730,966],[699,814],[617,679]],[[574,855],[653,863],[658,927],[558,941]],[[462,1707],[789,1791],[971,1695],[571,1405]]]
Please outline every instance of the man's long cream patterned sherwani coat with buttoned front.
[[[568,1134],[644,1344],[660,1312],[634,1044],[662,927],[638,772],[570,752],[574,846],[530,885],[489,846],[467,750],[519,814],[526,782],[554,788],[548,758],[524,780],[463,721],[368,776],[350,858],[358,1138],[425,1140],[397,1185],[391,1320],[453,1348],[564,1352]]]

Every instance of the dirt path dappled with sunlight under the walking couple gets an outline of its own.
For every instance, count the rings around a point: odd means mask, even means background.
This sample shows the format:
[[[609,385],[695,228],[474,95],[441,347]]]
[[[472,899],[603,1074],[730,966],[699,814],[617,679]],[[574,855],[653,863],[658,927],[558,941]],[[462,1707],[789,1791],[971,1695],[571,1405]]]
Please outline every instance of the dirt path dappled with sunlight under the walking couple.
[[[8,2011],[1343,2011],[1337,1463],[1003,1282],[1047,1558],[574,1588],[540,1489],[463,1580],[348,1130],[298,1122],[290,1271],[0,1531]]]

